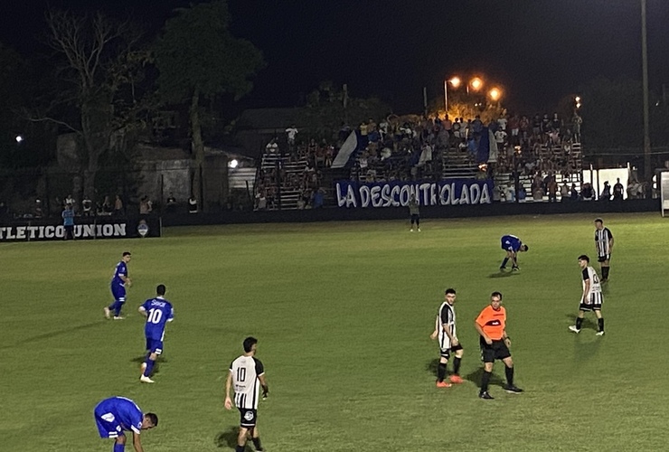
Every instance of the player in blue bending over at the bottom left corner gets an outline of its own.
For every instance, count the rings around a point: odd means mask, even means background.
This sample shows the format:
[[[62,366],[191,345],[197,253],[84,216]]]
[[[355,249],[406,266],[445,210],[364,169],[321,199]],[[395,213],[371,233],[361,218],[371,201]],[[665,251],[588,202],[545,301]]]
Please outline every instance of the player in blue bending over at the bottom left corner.
[[[93,410],[100,438],[114,438],[114,452],[126,449],[125,431],[132,431],[132,445],[136,452],[144,452],[139,434],[158,425],[154,413],[142,413],[137,403],[125,397],[102,400]]]

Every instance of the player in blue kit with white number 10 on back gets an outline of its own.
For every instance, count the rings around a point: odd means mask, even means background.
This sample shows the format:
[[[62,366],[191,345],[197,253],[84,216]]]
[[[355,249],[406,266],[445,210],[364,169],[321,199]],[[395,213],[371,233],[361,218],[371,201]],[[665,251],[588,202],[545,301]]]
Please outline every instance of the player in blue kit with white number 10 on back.
[[[151,372],[154,371],[155,360],[163,353],[163,339],[165,338],[165,325],[174,320],[174,308],[172,303],[165,300],[165,285],[155,287],[155,298],[147,299],[139,306],[139,313],[146,317],[144,334],[146,336],[146,362],[142,363],[142,375],[139,381],[153,383]]]

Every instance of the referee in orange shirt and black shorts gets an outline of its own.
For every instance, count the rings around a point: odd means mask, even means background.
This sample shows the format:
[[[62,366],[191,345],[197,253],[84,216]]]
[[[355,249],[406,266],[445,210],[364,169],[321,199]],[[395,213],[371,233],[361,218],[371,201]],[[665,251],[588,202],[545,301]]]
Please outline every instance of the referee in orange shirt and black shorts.
[[[481,379],[481,390],[478,397],[485,400],[493,400],[494,397],[488,393],[488,383],[493,374],[495,360],[504,362],[506,371],[506,385],[504,390],[509,393],[523,392],[514,385],[514,361],[511,359],[509,346],[511,340],[506,334],[506,309],[502,306],[502,294],[493,292],[490,296],[490,306],[485,306],[481,314],[476,317],[476,331],[481,334],[481,356],[484,362],[483,378]]]

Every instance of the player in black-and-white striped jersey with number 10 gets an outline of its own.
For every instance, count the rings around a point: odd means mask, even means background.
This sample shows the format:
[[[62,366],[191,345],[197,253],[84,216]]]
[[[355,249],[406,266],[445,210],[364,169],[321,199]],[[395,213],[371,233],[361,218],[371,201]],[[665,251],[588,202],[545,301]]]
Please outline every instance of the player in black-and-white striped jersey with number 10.
[[[267,381],[265,381],[265,368],[260,360],[255,357],[258,339],[247,337],[244,339],[244,354],[230,364],[230,373],[225,382],[225,409],[232,409],[230,398],[231,387],[234,386],[234,404],[240,410],[240,434],[237,437],[235,452],[244,452],[246,438],[250,434],[253,446],[258,452],[264,449],[260,444],[258,427],[258,400],[260,388],[262,398],[266,399],[269,393]]]

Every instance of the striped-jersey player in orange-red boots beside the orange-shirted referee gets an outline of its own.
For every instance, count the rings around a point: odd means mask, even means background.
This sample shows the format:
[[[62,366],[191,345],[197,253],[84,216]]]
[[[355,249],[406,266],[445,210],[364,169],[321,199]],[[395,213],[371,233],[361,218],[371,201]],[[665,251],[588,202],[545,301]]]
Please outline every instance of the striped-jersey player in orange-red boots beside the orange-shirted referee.
[[[461,383],[460,360],[464,353],[462,345],[456,336],[456,309],[453,306],[456,302],[456,289],[447,288],[445,301],[439,306],[434,333],[430,337],[438,339],[439,342],[439,363],[437,366],[437,387],[448,388],[451,383]],[[444,381],[446,378],[446,365],[450,353],[455,354],[453,359],[453,375],[450,376],[451,383]]]

